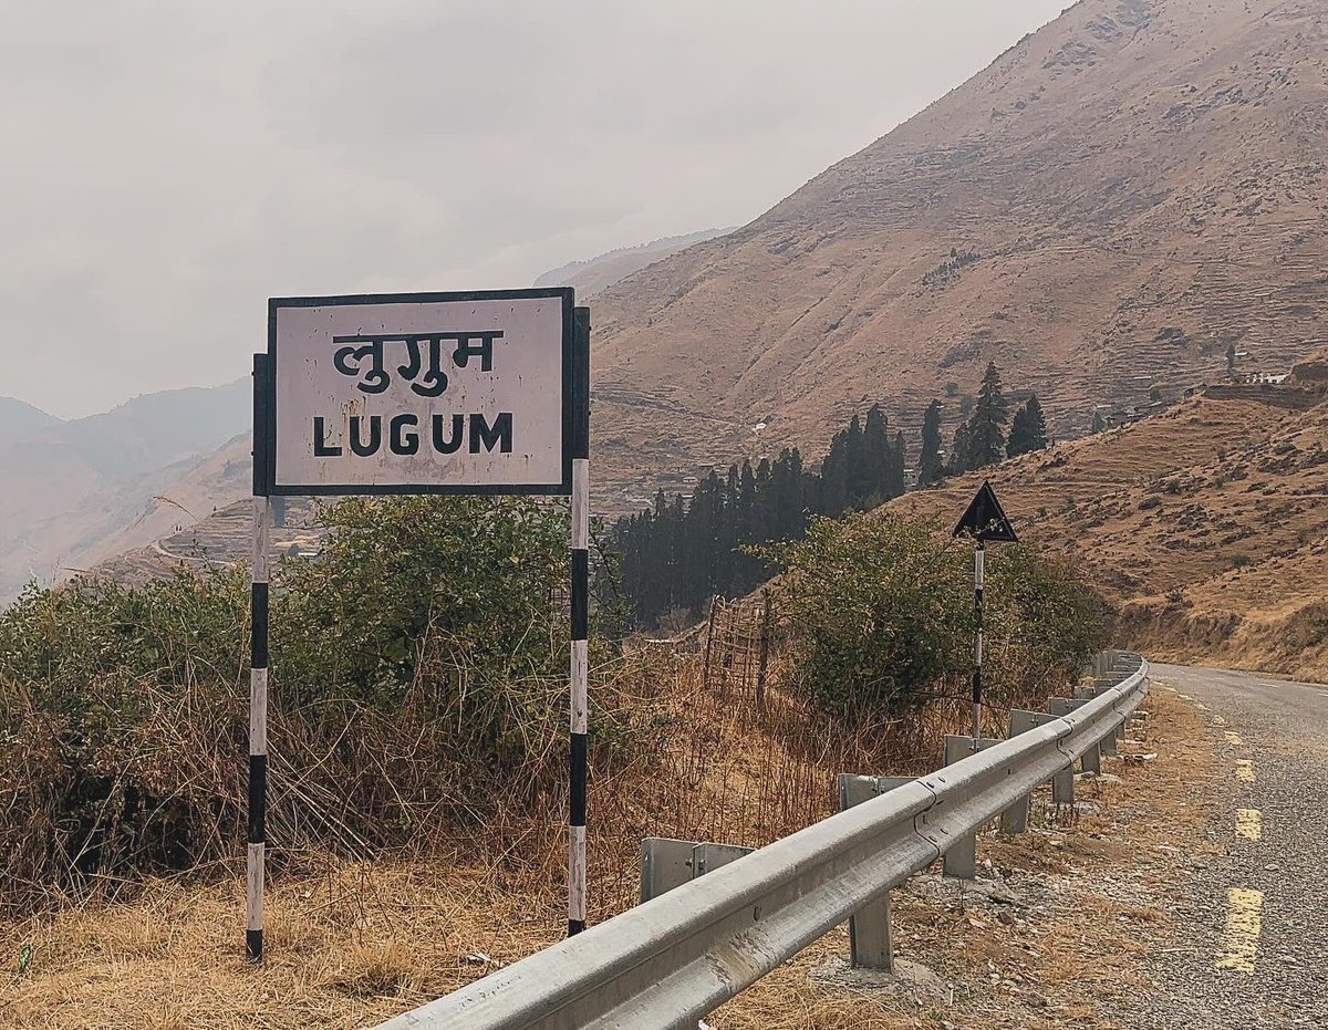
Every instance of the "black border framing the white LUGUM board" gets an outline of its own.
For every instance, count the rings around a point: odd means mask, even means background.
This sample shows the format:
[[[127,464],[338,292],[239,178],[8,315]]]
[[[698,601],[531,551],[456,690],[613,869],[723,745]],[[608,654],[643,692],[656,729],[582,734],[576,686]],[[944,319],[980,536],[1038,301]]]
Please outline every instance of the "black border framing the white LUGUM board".
[[[332,308],[363,304],[444,304],[475,300],[562,300],[563,304],[563,453],[560,483],[425,483],[364,486],[348,483],[299,483],[280,484],[276,482],[276,313],[282,308]],[[588,353],[579,353],[574,309],[576,291],[572,287],[548,287],[535,289],[475,289],[448,293],[347,293],[331,297],[270,297],[267,301],[267,382],[264,394],[267,410],[255,421],[255,431],[262,430],[262,453],[267,461],[263,479],[268,496],[418,496],[418,495],[530,495],[530,496],[570,496],[572,492],[572,433],[578,406],[590,405],[590,397],[578,397],[576,366],[590,362]],[[588,377],[584,377],[588,382]],[[259,447],[255,446],[255,451]],[[256,463],[256,455],[255,455]]]

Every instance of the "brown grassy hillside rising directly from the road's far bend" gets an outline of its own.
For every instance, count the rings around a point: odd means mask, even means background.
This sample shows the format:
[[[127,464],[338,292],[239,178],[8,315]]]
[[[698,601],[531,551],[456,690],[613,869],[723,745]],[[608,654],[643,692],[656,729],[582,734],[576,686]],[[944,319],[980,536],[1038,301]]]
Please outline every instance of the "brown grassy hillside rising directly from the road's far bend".
[[[1304,380],[1301,380],[1304,382]],[[1149,654],[1328,678],[1323,380],[1215,388],[987,470],[1025,542],[1082,567]],[[892,502],[957,519],[983,474]]]

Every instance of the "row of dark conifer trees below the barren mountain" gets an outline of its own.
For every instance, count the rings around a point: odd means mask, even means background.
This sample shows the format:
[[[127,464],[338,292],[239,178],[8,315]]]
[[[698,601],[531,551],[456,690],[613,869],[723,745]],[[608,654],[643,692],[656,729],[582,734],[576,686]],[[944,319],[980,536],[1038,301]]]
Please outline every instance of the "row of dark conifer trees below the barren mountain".
[[[1045,447],[1046,423],[1037,397],[1029,397],[1013,421],[1011,407],[1000,372],[991,364],[968,419],[955,430],[947,459],[943,407],[932,401],[923,414],[918,486]],[[689,499],[661,490],[649,508],[619,519],[608,535],[606,550],[618,555],[619,589],[631,617],[637,625],[653,625],[673,611],[696,617],[716,595],[750,592],[772,569],[741,548],[797,540],[813,516],[838,519],[900,496],[907,465],[903,433],[891,434],[884,410],[874,405],[866,419],[854,414],[835,434],[818,471],[806,470],[793,447],[773,462],[762,458],[754,469],[750,462],[733,465],[722,478],[712,470]]]

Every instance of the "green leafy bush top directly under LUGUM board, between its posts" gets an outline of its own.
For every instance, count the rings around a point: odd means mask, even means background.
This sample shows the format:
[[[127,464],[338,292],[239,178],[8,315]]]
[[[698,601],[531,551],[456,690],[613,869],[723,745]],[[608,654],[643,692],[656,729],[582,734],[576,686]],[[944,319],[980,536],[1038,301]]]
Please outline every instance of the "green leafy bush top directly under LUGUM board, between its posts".
[[[351,499],[316,559],[286,561],[274,674],[291,703],[390,711],[421,673],[483,689],[563,674],[566,511],[511,498]]]

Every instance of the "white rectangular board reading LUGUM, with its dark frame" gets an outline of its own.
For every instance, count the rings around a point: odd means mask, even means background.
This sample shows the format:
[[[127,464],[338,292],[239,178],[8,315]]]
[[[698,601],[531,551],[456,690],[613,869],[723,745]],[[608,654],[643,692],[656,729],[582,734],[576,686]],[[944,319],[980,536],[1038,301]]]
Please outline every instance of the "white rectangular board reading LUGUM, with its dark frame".
[[[568,494],[574,303],[567,288],[268,301],[270,492]]]

